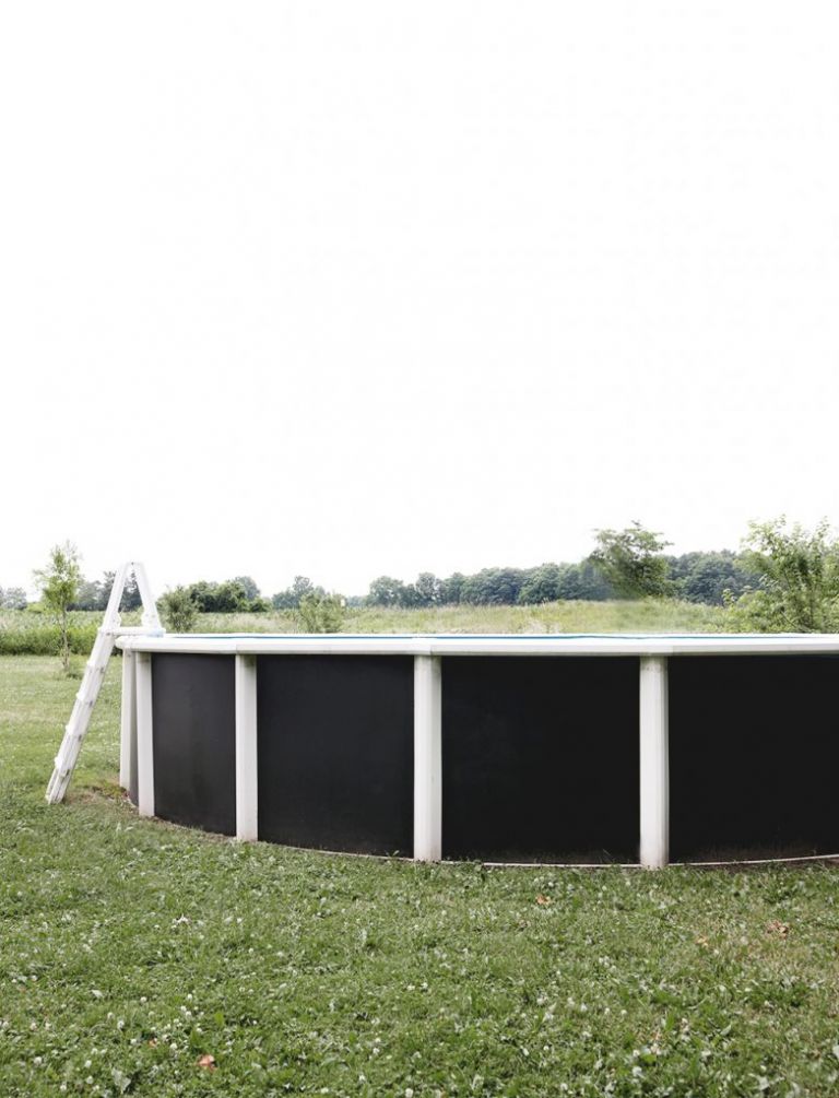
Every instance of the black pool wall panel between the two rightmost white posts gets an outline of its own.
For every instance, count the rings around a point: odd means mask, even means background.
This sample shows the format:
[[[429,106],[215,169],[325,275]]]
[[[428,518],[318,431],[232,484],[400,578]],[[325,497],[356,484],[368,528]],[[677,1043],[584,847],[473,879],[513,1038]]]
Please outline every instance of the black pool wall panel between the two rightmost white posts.
[[[638,860],[637,659],[443,660],[443,854]]]

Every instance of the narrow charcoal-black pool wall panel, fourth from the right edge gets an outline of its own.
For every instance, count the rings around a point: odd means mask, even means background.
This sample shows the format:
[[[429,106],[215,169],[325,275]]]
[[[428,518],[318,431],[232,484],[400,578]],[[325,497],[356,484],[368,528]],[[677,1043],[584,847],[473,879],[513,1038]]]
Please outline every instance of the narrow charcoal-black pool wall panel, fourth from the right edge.
[[[234,657],[156,653],[152,710],[155,815],[233,834]]]

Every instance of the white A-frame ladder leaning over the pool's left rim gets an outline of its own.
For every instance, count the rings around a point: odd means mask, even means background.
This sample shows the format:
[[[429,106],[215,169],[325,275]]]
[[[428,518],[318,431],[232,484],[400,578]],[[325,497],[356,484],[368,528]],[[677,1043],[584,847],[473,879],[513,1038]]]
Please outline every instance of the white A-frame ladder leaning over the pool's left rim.
[[[143,602],[143,624],[139,626],[123,626],[120,624],[120,603],[122,602],[125,584],[132,573],[136,580],[139,597]],[[126,634],[155,636],[163,635],[163,632],[164,629],[157,616],[157,607],[152,594],[152,587],[148,584],[146,570],[139,561],[127,561],[118,569],[114,575],[104,620],[97,631],[97,639],[93,642],[93,649],[85,668],[81,686],[76,695],[72,713],[65,728],[61,746],[58,749],[58,754],[55,757],[55,770],[46,788],[48,804],[57,805],[64,800],[67,793],[67,786],[70,784],[70,777],[79,758],[81,743],[90,724],[90,715],[99,697],[99,691],[102,686],[108,661],[111,659],[116,638],[124,637]]]

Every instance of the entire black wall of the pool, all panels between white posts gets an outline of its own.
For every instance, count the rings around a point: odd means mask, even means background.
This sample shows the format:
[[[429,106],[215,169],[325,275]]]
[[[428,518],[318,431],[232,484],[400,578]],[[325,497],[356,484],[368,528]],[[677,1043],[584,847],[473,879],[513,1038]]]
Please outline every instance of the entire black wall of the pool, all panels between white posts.
[[[671,860],[839,851],[839,657],[668,663]],[[444,856],[638,860],[637,658],[441,665]],[[152,671],[156,814],[235,833],[234,657],[155,653]],[[258,658],[260,839],[411,855],[413,672]]]

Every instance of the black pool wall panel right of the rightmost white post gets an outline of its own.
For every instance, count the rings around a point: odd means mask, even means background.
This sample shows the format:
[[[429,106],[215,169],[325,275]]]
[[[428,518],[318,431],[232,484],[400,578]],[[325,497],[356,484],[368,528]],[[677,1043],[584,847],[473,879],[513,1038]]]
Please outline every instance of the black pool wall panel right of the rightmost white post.
[[[839,659],[670,659],[673,861],[839,851]]]

